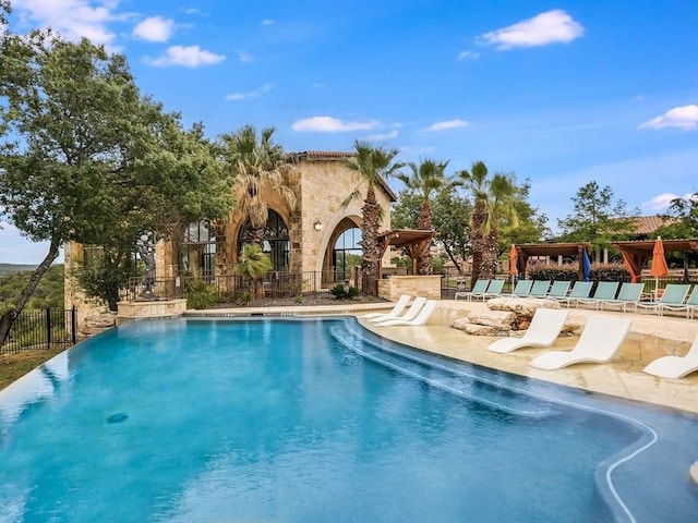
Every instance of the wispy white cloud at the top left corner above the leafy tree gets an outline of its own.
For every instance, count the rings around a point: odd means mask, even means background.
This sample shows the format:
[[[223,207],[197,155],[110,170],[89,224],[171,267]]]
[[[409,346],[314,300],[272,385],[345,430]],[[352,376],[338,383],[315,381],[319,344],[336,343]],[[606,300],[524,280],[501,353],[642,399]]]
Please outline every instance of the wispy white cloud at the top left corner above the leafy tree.
[[[94,7],[92,4],[95,4]],[[27,23],[38,27],[52,27],[69,40],[88,38],[95,44],[109,45],[116,34],[107,27],[120,20],[112,10],[113,1],[87,0],[13,0],[12,9]]]

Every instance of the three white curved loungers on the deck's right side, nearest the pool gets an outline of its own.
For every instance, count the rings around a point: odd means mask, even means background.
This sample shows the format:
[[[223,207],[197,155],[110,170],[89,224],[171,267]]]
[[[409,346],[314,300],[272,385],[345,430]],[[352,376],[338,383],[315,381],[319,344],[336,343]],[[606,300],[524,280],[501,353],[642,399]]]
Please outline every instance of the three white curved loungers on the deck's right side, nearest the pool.
[[[551,346],[567,320],[569,311],[538,308],[531,325],[521,338],[503,338],[488,346],[489,351],[509,353],[524,346]],[[630,330],[631,319],[611,316],[591,316],[579,341],[571,351],[550,351],[531,360],[529,365],[544,370],[577,363],[609,362]],[[698,370],[698,336],[684,356],[660,357],[642,372],[662,378],[682,378]]]

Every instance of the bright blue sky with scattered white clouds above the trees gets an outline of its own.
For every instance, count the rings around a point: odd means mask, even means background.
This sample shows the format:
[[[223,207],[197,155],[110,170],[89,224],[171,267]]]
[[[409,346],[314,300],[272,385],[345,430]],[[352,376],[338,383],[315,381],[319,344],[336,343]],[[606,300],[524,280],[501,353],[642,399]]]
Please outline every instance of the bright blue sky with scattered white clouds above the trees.
[[[369,139],[449,173],[484,160],[530,178],[553,229],[590,181],[642,215],[698,191],[696,0],[12,4],[15,32],[124,53],[144,95],[210,137],[249,123],[288,151]],[[0,230],[0,263],[46,252]]]

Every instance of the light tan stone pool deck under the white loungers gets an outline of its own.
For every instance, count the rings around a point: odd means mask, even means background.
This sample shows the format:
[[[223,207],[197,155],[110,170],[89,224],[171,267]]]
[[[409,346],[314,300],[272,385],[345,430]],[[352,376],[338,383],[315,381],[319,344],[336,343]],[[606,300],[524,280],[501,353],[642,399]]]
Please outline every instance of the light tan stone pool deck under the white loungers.
[[[188,316],[256,316],[264,315],[356,315],[368,311],[388,311],[393,304],[357,304],[322,307],[277,307],[265,309],[231,308],[188,311]],[[698,373],[682,379],[663,379],[643,374],[650,362],[665,355],[684,355],[698,333],[698,320],[673,314],[658,316],[652,313],[600,312],[590,308],[571,308],[568,323],[585,325],[589,316],[622,316],[633,319],[630,335],[621,345],[615,357],[605,364],[578,364],[556,370],[541,370],[528,363],[550,350],[569,350],[578,337],[561,337],[551,349],[520,349],[509,354],[498,354],[485,348],[496,338],[471,336],[450,327],[456,318],[470,311],[484,311],[480,301],[442,300],[424,326],[377,327],[359,319],[369,330],[387,339],[409,344],[448,357],[505,370],[531,378],[601,392],[634,401],[654,403],[698,414]]]

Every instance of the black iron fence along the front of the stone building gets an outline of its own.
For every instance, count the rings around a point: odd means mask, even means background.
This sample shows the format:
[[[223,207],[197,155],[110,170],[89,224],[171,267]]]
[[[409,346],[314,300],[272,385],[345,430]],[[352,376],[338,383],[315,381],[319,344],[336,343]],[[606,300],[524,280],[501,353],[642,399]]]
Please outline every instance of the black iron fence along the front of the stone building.
[[[348,278],[345,278],[348,276]],[[184,297],[193,281],[204,282],[215,288],[221,301],[236,301],[241,293],[250,292],[252,281],[240,276],[215,276],[205,278],[176,277],[143,279],[131,278],[122,289],[123,301],[157,301]],[[375,279],[363,277],[360,271],[352,273],[328,271],[281,271],[272,270],[263,278],[266,297],[322,296],[329,294],[336,284],[351,285],[366,292],[369,285],[376,285]]]

